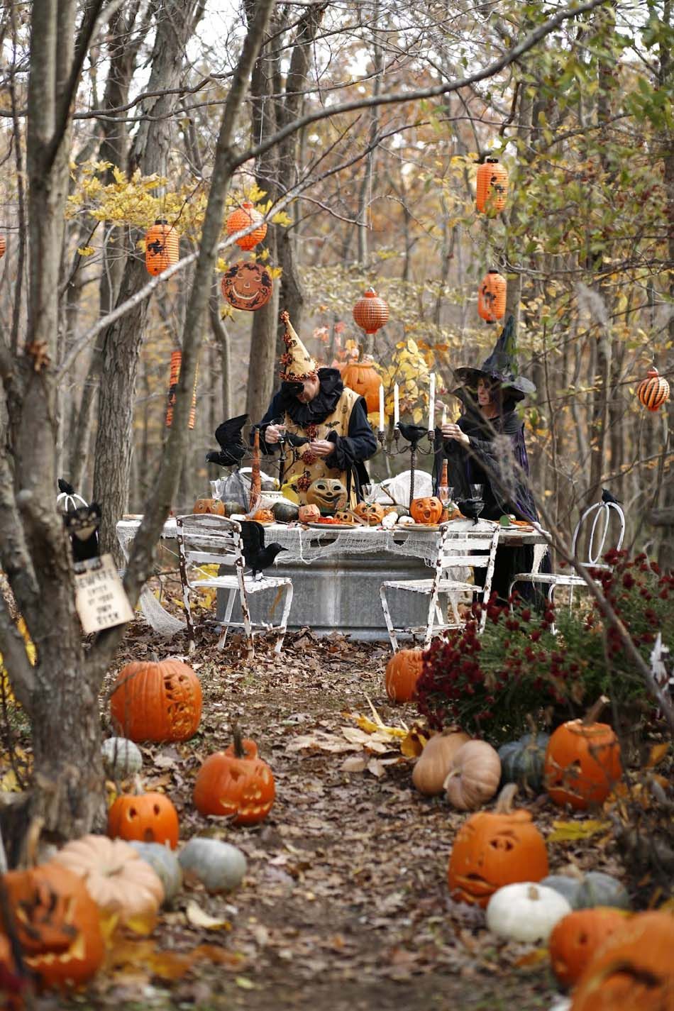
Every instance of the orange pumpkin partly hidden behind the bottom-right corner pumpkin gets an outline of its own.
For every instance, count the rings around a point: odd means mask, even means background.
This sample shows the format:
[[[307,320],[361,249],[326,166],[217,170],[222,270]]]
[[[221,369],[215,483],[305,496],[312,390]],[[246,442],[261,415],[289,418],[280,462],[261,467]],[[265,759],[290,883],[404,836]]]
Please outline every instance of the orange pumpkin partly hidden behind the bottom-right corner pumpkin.
[[[560,983],[565,987],[577,983],[599,945],[624,924],[624,912],[604,906],[577,909],[562,917],[548,943],[550,962]]]

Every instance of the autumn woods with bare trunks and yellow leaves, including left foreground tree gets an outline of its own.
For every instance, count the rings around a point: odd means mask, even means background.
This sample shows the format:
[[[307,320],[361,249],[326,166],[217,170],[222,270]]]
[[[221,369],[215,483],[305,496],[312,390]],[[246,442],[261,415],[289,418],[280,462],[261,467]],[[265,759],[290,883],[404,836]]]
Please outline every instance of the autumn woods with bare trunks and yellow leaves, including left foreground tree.
[[[649,413],[635,393],[652,364],[674,371],[670,0],[44,0],[1,18],[0,562],[36,669],[6,610],[0,646],[50,770],[47,825],[81,830],[100,806],[92,699],[121,635],[85,659],[56,478],[102,502],[104,550],[123,513],[143,513],[134,602],[169,510],[218,476],[205,464],[217,424],[265,411],[281,308],[322,362],[374,354],[387,424],[396,381],[403,418],[419,421],[430,372],[449,391],[452,367],[491,349],[477,284],[498,268],[537,385],[523,411],[551,526],[568,532],[606,485],[632,540],[667,561],[672,406]],[[492,218],[474,204],[487,156],[510,178]],[[275,293],[228,313],[219,280],[240,253],[224,222],[244,198],[269,221],[255,255]],[[181,260],[150,279],[157,217],[180,231]],[[371,284],[390,319],[364,344],[352,306]],[[455,416],[449,392],[437,404]],[[39,688],[56,665],[55,705]]]

